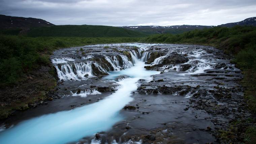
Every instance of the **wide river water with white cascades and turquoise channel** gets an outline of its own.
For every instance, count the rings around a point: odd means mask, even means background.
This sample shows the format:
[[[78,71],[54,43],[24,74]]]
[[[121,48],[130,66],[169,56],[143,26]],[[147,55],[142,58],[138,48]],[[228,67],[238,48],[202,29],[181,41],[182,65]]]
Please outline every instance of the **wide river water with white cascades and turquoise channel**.
[[[109,48],[106,49],[105,46]],[[151,64],[145,64],[153,52],[160,52],[160,56],[154,58]],[[86,104],[71,110],[69,107],[68,111],[50,111],[46,115],[21,121],[8,129],[1,126],[0,144],[75,143],[85,137],[94,136],[95,133],[116,129],[115,125],[122,125],[126,120],[133,126],[131,130],[128,128],[131,134],[146,133],[166,123],[165,126],[170,124],[172,128],[173,125],[185,125],[176,131],[181,133],[181,137],[193,138],[193,142],[197,142],[202,134],[206,138],[200,139],[200,142],[205,143],[214,140],[212,135],[194,131],[192,128],[213,124],[207,119],[195,119],[194,112],[184,113],[184,106],[189,104],[186,99],[193,96],[215,99],[213,86],[221,84],[225,88],[234,89],[238,85],[233,80],[241,77],[239,70],[223,57],[221,51],[196,45],[92,45],[57,50],[51,60],[59,77],[58,97],[53,97],[57,100],[62,97],[60,101],[66,97],[80,97],[77,105]],[[145,66],[151,70],[146,70]],[[169,95],[156,97],[150,96],[151,94]],[[176,104],[179,101],[180,104]],[[122,111],[127,104],[136,105],[136,111]],[[48,105],[51,105],[50,102]],[[59,106],[62,107],[61,104]],[[210,117],[201,112],[200,115]],[[141,119],[137,120],[139,118]],[[127,125],[121,126],[124,127],[122,130],[125,129],[122,136],[127,133]],[[192,128],[188,129],[190,127]],[[172,128],[165,128],[162,135],[172,131]],[[190,130],[192,131],[188,132]],[[111,139],[108,143],[134,143],[129,139],[128,142],[127,139],[116,139],[118,138]],[[90,138],[87,143],[105,141]]]

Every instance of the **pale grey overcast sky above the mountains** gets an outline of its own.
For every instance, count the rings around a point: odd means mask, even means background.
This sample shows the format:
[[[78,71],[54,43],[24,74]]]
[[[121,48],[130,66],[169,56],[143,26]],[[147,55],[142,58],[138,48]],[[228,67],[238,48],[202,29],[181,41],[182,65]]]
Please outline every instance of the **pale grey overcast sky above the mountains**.
[[[0,0],[0,14],[56,25],[219,25],[256,16],[256,0]]]

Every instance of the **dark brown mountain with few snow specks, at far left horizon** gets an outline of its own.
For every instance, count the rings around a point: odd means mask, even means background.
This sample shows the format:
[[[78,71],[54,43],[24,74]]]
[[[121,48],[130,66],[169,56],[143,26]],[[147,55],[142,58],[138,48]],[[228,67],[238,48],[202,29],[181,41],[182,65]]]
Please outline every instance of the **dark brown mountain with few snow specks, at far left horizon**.
[[[0,28],[30,28],[53,25],[48,21],[38,18],[0,15]]]

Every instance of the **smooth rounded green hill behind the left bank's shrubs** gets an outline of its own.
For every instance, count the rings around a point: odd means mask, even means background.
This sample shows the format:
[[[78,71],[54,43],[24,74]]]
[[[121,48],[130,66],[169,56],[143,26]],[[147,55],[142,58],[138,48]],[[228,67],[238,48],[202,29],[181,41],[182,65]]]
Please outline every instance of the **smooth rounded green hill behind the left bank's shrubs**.
[[[145,37],[146,34],[114,26],[102,25],[56,25],[34,27],[28,37]]]

